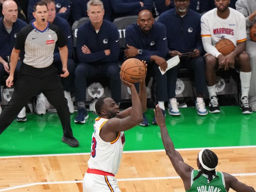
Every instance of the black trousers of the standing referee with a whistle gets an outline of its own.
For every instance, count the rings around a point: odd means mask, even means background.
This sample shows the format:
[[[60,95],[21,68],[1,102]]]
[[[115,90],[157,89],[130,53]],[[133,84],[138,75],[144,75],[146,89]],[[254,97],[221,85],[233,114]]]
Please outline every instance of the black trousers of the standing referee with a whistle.
[[[0,134],[15,120],[20,110],[38,92],[42,92],[47,100],[56,108],[64,136],[74,138],[70,126],[68,101],[64,97],[57,68],[53,65],[46,68],[34,68],[24,63],[21,64],[12,99],[0,115]]]

